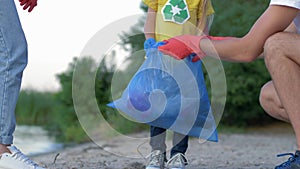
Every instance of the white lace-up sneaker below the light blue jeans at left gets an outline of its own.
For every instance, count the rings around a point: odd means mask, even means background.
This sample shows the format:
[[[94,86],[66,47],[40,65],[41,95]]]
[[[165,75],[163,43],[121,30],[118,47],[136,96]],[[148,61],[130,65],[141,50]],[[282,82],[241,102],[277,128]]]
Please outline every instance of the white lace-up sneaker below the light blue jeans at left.
[[[3,153],[0,158],[1,169],[45,169],[26,157],[15,146],[7,147],[11,153]]]

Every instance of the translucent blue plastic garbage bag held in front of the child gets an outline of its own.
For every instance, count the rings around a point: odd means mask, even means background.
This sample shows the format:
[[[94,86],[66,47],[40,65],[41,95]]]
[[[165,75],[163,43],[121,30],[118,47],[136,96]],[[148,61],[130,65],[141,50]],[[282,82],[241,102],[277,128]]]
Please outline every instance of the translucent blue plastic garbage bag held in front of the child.
[[[157,48],[147,51],[121,98],[108,106],[140,123],[217,142],[202,63],[191,60],[173,59]]]

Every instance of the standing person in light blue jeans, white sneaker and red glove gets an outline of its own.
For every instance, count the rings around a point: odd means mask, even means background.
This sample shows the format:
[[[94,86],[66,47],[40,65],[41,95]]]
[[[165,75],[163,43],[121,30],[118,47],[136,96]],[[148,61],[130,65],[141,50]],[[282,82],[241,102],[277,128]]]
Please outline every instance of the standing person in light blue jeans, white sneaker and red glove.
[[[36,0],[22,0],[31,11]],[[43,169],[13,144],[15,107],[23,70],[27,65],[27,42],[14,0],[0,0],[0,168]]]

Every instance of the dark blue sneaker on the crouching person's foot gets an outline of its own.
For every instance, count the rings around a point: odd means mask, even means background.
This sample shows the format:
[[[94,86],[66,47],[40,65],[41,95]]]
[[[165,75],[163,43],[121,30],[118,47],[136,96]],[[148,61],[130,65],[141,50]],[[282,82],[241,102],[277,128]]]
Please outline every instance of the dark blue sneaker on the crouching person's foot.
[[[279,154],[277,157],[282,157],[290,155],[291,157],[284,163],[276,166],[275,169],[300,169],[300,151],[297,150],[295,154],[293,153],[286,153],[286,154]]]

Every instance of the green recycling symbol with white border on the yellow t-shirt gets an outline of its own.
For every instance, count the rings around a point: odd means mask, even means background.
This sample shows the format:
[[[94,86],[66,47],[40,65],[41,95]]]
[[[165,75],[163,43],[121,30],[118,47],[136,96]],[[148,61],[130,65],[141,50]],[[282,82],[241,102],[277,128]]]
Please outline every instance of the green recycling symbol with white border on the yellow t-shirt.
[[[186,0],[169,0],[162,8],[164,21],[183,24],[190,18]]]

